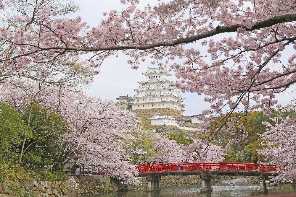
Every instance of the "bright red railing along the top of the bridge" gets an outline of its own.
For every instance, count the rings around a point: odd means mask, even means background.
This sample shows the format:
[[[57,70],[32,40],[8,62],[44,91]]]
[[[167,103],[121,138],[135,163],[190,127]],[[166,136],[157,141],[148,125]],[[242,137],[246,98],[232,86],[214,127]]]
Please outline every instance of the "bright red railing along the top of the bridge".
[[[153,164],[136,166],[139,173],[147,172],[173,172],[173,171],[248,171],[248,172],[274,172],[273,166],[264,166],[254,163],[188,163],[188,165]]]

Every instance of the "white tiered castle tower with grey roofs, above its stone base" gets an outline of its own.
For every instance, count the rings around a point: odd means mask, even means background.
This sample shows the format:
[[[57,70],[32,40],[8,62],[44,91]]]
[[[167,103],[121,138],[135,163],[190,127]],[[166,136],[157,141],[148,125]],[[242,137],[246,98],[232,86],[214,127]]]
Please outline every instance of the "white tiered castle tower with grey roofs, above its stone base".
[[[184,111],[184,98],[181,97],[175,83],[168,79],[171,74],[164,68],[148,68],[147,72],[143,73],[146,76],[140,84],[132,102],[132,110],[153,109],[153,108],[173,108]]]

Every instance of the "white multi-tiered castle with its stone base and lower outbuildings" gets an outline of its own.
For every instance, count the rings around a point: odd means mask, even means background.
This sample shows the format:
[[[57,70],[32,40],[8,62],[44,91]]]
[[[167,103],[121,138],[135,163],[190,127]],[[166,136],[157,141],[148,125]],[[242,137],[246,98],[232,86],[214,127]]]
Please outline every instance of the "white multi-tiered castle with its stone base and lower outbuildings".
[[[169,79],[171,74],[166,67],[148,68],[143,73],[145,80],[138,82],[133,97],[119,96],[116,105],[138,113],[141,118],[149,118],[153,128],[170,128],[201,131],[202,115],[183,116],[184,98],[175,83]],[[159,115],[154,115],[159,113]],[[163,130],[163,129],[161,129]]]

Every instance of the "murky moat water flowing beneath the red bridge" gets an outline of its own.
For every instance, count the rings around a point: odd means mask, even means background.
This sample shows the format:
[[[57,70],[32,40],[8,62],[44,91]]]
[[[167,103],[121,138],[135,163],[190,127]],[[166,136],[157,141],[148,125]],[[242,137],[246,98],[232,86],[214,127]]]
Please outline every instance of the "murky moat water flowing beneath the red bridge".
[[[232,184],[232,183],[231,183]],[[104,194],[88,195],[84,197],[242,197],[242,196],[269,196],[295,194],[296,184],[278,184],[276,186],[269,186],[268,194],[260,194],[259,184],[234,184],[233,186],[227,183],[216,183],[212,185],[212,193],[200,193],[201,185],[185,185],[179,187],[161,188],[160,192],[147,193],[146,190],[126,191],[126,192],[112,192]],[[274,196],[273,196],[274,197]]]

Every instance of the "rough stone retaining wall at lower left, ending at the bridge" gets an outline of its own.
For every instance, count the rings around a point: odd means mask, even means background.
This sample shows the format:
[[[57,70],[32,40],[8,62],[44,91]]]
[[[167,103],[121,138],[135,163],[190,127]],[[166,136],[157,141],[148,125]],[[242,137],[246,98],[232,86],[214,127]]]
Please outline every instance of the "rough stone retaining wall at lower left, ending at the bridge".
[[[11,181],[0,180],[0,196],[6,197],[76,197],[85,194],[106,193],[113,191],[128,191],[144,189],[144,183],[135,185],[124,185],[116,179],[108,177],[87,179],[68,179],[64,181]]]

